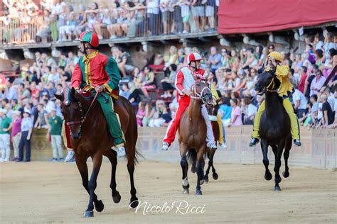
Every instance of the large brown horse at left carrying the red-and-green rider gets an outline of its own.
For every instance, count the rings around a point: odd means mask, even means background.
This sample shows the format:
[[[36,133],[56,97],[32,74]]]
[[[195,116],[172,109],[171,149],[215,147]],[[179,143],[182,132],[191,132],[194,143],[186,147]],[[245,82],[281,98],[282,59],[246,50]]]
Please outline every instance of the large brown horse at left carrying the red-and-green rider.
[[[94,216],[94,203],[97,212],[104,209],[102,201],[97,199],[95,189],[97,186],[97,176],[100,172],[102,157],[105,155],[112,164],[112,175],[110,188],[112,189],[112,199],[114,203],[119,203],[121,196],[117,191],[116,167],[117,153],[110,148],[114,145],[107,121],[103,115],[100,103],[92,103],[92,99],[86,99],[75,89],[65,88],[63,94],[55,97],[61,102],[61,111],[68,123],[71,133],[71,145],[75,152],[76,165],[82,177],[82,185],[90,195],[89,204],[85,211],[85,217]],[[109,97],[109,96],[107,96]],[[91,105],[92,103],[92,105]],[[124,97],[119,97],[114,102],[114,111],[119,114],[122,124],[122,131],[126,137],[125,149],[127,152],[127,169],[131,182],[131,199],[129,206],[135,208],[138,206],[138,198],[134,187],[134,165],[137,162],[138,152],[136,150],[137,142],[137,120],[134,109]],[[87,158],[91,157],[93,166],[90,180],[88,181]]]

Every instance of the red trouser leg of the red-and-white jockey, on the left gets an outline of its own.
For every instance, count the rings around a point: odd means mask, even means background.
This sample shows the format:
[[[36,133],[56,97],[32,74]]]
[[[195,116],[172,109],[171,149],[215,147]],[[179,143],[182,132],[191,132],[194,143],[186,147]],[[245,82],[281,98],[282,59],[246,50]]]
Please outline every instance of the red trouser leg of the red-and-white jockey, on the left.
[[[178,101],[178,110],[176,112],[176,117],[171,121],[169,126],[166,130],[166,135],[163,140],[163,142],[168,143],[171,145],[171,143],[174,141],[174,138],[176,138],[176,132],[179,128],[181,116],[183,115],[183,112],[185,112],[188,105],[190,105],[191,98],[190,96],[181,96]]]

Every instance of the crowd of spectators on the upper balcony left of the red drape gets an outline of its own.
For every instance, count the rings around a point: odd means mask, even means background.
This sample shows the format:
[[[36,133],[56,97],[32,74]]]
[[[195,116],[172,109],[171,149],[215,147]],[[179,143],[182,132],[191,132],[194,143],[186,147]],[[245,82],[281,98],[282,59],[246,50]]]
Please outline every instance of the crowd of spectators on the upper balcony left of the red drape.
[[[218,0],[112,1],[78,9],[66,1],[3,0],[3,44],[71,41],[85,30],[100,39],[215,31]]]

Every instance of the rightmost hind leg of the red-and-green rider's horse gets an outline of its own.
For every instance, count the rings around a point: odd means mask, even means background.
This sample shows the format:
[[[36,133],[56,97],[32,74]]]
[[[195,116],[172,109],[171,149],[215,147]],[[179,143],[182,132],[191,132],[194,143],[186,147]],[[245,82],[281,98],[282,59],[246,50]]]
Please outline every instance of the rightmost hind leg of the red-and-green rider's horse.
[[[136,208],[139,203],[136,196],[137,190],[136,187],[134,187],[134,158],[136,157],[136,144],[131,144],[130,141],[127,141],[125,145],[127,150],[127,171],[129,172],[131,185],[129,206],[131,208]]]

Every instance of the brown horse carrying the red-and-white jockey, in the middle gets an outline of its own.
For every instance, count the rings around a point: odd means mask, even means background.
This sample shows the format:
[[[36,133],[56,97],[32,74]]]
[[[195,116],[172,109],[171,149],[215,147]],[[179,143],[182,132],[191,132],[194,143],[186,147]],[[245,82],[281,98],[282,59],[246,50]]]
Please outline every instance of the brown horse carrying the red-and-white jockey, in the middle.
[[[203,103],[213,103],[212,93],[206,82],[196,80],[191,88],[191,103],[181,116],[179,125],[179,148],[181,155],[181,169],[183,171],[183,194],[188,194],[188,162],[196,168],[197,186],[196,195],[201,195],[200,183],[203,182],[203,156],[206,150],[206,123],[201,113]],[[195,164],[195,165],[194,165]]]

